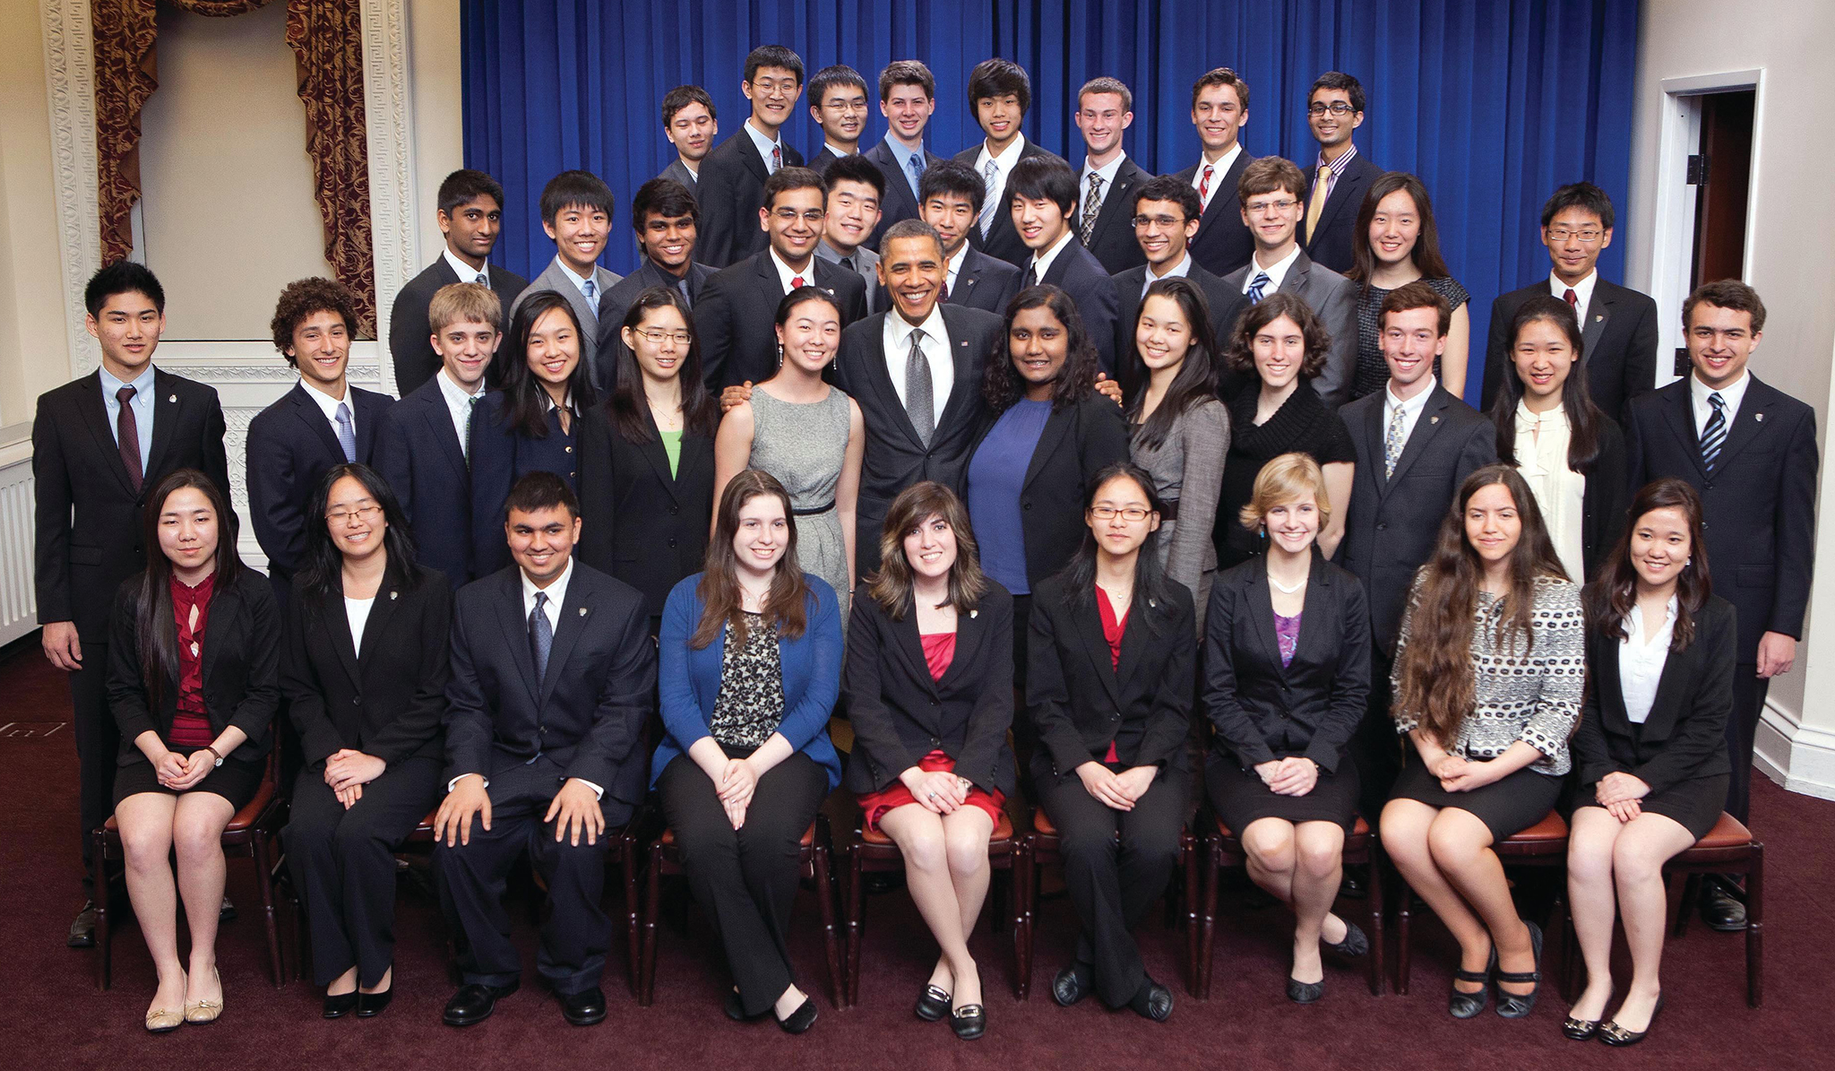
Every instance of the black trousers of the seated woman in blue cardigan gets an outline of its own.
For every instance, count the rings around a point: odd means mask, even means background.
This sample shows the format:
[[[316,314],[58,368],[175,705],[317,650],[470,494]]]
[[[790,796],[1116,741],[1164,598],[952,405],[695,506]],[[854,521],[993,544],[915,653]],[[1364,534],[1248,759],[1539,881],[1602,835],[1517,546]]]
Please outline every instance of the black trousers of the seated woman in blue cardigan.
[[[734,759],[749,751],[727,748]],[[802,751],[778,762],[758,779],[740,829],[727,819],[714,781],[688,755],[670,761],[657,794],[694,898],[714,917],[745,1014],[763,1014],[795,981],[787,935],[796,858],[828,795],[828,772]]]

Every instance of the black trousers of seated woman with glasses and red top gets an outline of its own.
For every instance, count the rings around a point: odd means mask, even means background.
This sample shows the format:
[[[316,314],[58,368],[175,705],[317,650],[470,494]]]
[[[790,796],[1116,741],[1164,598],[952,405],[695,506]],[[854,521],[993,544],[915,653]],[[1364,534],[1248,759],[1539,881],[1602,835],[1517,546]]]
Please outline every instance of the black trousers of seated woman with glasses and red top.
[[[1129,1003],[1147,981],[1129,931],[1165,893],[1178,865],[1189,781],[1184,762],[1167,762],[1134,810],[1114,810],[1097,803],[1075,773],[1033,770],[1039,806],[1057,825],[1064,885],[1083,922],[1077,961],[1095,968],[1095,992],[1112,1009]]]

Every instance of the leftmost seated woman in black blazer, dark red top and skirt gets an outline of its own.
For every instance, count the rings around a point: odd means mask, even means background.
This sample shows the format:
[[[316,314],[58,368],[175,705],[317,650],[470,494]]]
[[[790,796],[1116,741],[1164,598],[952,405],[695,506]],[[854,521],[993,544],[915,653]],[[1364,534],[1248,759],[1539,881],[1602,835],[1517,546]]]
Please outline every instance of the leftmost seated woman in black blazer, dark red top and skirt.
[[[235,553],[235,514],[217,481],[180,468],[147,502],[145,546],[160,553],[116,593],[108,707],[121,726],[114,797],[127,889],[160,974],[145,1025],[163,1034],[224,1010],[222,834],[266,770],[281,619],[268,579]],[[180,898],[189,970],[178,959]]]

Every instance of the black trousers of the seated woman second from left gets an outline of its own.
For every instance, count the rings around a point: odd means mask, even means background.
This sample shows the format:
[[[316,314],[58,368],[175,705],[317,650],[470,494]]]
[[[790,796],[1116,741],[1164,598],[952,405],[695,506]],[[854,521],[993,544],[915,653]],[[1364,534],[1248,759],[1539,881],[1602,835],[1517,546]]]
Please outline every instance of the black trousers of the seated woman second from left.
[[[350,810],[325,784],[323,762],[299,772],[281,841],[306,909],[314,985],[352,966],[358,985],[376,985],[395,963],[395,852],[439,797],[433,757],[389,766]]]

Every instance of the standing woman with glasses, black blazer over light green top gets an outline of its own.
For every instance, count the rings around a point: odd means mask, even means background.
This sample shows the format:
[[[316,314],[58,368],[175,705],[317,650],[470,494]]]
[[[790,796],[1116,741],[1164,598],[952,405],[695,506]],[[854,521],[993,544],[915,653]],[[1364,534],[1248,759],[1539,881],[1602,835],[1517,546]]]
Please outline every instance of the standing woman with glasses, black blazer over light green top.
[[[719,404],[681,294],[640,292],[620,336],[618,386],[580,421],[580,560],[642,592],[655,636],[670,588],[706,557]]]

